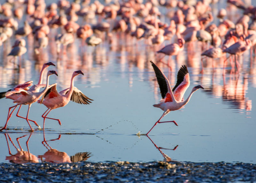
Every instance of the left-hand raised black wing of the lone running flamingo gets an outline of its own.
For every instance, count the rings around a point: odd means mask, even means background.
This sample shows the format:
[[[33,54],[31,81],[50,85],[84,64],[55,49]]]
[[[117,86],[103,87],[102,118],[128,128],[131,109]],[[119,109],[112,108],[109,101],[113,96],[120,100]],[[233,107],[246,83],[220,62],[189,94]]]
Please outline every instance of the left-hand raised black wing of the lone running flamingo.
[[[174,96],[173,96],[172,89],[168,79],[166,78],[164,73],[156,66],[154,62],[152,61],[150,62],[155,71],[157,83],[159,85],[162,98],[165,99],[165,102],[174,101]]]

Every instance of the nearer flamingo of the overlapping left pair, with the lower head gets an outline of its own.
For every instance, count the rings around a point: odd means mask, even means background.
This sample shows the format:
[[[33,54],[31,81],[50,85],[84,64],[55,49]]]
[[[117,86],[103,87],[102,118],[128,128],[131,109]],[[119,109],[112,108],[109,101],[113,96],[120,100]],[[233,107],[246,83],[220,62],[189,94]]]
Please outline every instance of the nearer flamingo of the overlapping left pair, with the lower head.
[[[6,95],[6,98],[8,98],[9,96],[12,96],[12,94],[14,94],[14,93],[16,93],[16,94],[18,95],[18,97],[17,97],[15,100],[13,100],[13,103],[16,103],[16,105],[15,105],[15,106],[12,106],[12,107],[15,107],[15,108],[16,108],[16,107],[19,106],[19,105],[20,105],[20,106],[21,106],[21,105],[28,105],[27,117],[26,117],[26,118],[22,117],[22,118],[24,118],[24,119],[27,120],[28,125],[29,125],[31,131],[34,131],[34,130],[32,129],[32,127],[31,127],[31,125],[30,125],[30,123],[29,123],[29,121],[32,121],[32,120],[29,120],[29,119],[28,119],[28,113],[29,113],[30,107],[31,107],[31,105],[32,105],[34,102],[36,102],[40,97],[42,97],[42,96],[44,95],[44,93],[49,89],[49,87],[50,87],[50,86],[49,86],[49,77],[50,77],[52,74],[55,74],[56,76],[58,76],[58,74],[57,74],[57,72],[56,72],[55,70],[49,70],[48,73],[47,73],[46,86],[45,86],[45,88],[44,88],[43,91],[40,91],[40,92],[36,92],[36,90],[26,91],[26,90],[24,90],[24,89],[22,89],[22,88],[17,88],[15,91],[8,91],[8,92],[6,92],[6,94],[5,94],[5,95]],[[12,107],[9,108],[9,113],[10,113],[10,110],[11,110]],[[15,108],[14,108],[14,109],[15,109]],[[12,112],[13,112],[13,111],[12,111]],[[6,128],[7,123],[8,123],[8,121],[9,121],[11,115],[12,115],[12,113],[11,113],[10,115],[9,115],[9,113],[8,113],[7,121],[6,121],[5,125],[4,125],[4,127],[3,127],[0,131],[4,130],[4,129]],[[19,110],[18,110],[18,112],[17,112],[17,115],[18,115],[18,113],[19,113]],[[34,121],[33,121],[33,122],[34,122]],[[36,124],[36,122],[35,122],[35,124]],[[37,125],[37,124],[36,124],[36,125]],[[38,125],[37,125],[37,126],[38,126]]]

